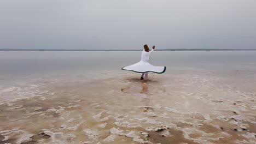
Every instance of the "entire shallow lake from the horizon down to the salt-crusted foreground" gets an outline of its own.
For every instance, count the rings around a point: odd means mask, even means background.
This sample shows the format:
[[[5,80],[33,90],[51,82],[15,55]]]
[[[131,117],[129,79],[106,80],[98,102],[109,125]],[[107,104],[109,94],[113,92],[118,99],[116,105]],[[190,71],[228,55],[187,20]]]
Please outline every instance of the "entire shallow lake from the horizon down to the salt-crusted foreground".
[[[24,63],[32,70],[22,74],[11,69],[19,70],[14,62],[24,61],[5,53],[0,62],[8,65],[1,73],[0,143],[256,143],[255,61],[246,52],[214,53],[233,60],[247,56],[226,64],[190,61],[200,53],[156,51],[152,64],[164,63],[167,71],[149,73],[143,81],[137,73],[120,70],[138,52],[123,58],[121,52],[62,53],[72,69],[60,60],[63,55],[28,52],[27,59],[40,62]],[[207,55],[211,59],[213,53]],[[171,67],[175,57],[181,64]],[[49,59],[60,64],[48,64]],[[85,59],[90,64],[77,64]],[[45,71],[37,69],[42,65],[48,65]]]

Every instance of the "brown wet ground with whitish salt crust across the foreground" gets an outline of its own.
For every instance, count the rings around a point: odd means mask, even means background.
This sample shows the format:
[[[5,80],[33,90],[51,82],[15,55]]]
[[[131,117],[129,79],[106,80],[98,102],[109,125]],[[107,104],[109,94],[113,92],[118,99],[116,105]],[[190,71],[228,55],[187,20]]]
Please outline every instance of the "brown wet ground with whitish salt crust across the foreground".
[[[256,143],[253,73],[138,78],[48,83],[2,101],[0,143]]]

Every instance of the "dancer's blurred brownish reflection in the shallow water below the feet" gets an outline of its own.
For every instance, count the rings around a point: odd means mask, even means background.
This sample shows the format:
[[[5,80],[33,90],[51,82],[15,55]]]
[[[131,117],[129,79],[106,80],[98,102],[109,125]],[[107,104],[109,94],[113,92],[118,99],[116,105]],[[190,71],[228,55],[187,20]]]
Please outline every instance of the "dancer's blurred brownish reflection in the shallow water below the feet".
[[[143,107],[143,112],[148,112],[149,109],[152,109],[152,107],[149,106],[149,97],[148,97],[148,85],[142,84],[141,87],[127,87],[127,88],[121,88],[121,91],[124,93],[132,93],[139,97],[141,97],[141,104]],[[153,111],[153,109],[152,109]]]

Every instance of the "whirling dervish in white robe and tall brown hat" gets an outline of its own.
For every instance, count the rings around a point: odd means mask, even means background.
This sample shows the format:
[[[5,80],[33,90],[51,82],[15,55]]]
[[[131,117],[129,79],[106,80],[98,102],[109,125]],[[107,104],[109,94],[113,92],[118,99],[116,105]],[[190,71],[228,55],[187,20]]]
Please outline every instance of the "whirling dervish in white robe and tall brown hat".
[[[149,61],[149,55],[154,51],[155,46],[152,47],[152,50],[149,51],[149,47],[147,44],[144,45],[144,49],[141,53],[141,61],[129,65],[127,67],[122,68],[123,70],[130,70],[130,71],[134,71],[136,73],[142,73],[141,75],[141,80],[144,80],[144,76],[145,79],[148,78],[148,72],[153,72],[153,73],[158,73],[158,74],[162,74],[165,73],[166,67],[164,66],[154,66],[150,63],[148,63]]]

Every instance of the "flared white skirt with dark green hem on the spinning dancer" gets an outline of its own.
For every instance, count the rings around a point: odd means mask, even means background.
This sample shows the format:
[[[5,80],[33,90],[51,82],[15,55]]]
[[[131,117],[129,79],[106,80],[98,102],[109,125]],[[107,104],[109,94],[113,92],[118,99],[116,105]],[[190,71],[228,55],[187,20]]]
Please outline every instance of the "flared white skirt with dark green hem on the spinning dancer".
[[[162,73],[165,73],[166,67],[164,67],[164,66],[154,66],[154,65],[151,65],[148,62],[140,61],[138,63],[129,65],[127,67],[124,67],[122,69],[123,70],[134,71],[136,73],[153,72],[153,73],[162,74]]]

